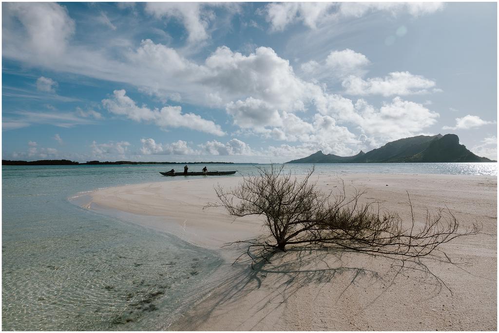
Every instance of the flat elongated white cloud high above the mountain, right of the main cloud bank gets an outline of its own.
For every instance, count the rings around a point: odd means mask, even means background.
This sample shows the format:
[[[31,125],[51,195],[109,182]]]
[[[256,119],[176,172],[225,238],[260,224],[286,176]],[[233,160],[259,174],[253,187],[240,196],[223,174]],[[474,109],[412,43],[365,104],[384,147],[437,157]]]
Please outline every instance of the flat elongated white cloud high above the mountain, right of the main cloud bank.
[[[437,92],[435,81],[421,75],[409,72],[393,72],[384,78],[369,78],[364,80],[349,76],[343,82],[345,93],[349,95],[418,95]]]

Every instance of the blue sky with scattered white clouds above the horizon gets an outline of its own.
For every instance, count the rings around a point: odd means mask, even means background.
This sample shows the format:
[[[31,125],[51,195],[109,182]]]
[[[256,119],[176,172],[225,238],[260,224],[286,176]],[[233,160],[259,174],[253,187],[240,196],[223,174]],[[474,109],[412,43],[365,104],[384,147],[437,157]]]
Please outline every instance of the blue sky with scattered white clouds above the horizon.
[[[497,3],[2,2],[2,159],[497,159]]]

